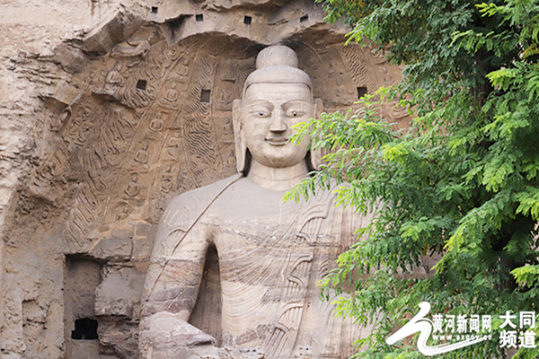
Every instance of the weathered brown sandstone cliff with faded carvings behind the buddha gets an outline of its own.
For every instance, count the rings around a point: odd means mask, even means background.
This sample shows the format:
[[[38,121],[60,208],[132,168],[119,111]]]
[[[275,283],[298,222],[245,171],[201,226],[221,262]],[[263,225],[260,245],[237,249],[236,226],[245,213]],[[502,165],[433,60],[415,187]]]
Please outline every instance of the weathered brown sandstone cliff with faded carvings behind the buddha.
[[[2,358],[137,357],[156,223],[234,174],[232,101],[261,48],[294,48],[326,111],[400,79],[306,0],[0,8]]]

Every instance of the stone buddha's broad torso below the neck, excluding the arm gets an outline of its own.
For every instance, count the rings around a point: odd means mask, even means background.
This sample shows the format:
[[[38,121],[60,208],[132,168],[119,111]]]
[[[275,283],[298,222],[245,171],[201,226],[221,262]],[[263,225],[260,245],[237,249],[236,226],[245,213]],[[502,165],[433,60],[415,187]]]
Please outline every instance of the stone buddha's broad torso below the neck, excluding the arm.
[[[349,328],[316,286],[348,244],[342,210],[327,194],[300,205],[283,194],[242,179],[199,219],[219,257],[223,345],[266,358],[344,357]]]

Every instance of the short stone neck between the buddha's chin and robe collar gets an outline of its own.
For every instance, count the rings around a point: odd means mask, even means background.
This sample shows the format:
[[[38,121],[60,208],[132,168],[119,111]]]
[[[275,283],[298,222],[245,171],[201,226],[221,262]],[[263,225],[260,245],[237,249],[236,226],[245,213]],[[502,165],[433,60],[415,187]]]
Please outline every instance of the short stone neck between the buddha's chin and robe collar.
[[[265,166],[252,158],[247,178],[261,188],[285,191],[305,179],[308,173],[309,169],[305,160],[291,167],[275,168]]]

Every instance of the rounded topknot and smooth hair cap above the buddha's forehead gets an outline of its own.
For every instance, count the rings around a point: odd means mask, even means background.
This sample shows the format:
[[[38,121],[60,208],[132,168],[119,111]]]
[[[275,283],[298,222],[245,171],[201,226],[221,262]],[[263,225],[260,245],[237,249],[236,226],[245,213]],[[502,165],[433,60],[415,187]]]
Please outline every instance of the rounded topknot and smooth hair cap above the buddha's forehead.
[[[313,90],[311,78],[297,68],[298,64],[292,48],[283,45],[264,48],[256,57],[256,70],[245,80],[243,94],[252,83],[304,83]]]

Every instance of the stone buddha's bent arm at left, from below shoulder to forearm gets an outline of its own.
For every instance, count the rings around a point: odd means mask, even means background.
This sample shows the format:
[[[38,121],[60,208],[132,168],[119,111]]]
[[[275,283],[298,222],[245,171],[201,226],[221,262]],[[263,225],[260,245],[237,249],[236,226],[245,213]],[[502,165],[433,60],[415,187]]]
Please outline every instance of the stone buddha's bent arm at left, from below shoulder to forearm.
[[[155,239],[146,275],[145,303],[139,332],[140,357],[183,358],[189,353],[218,358],[215,338],[187,321],[195,306],[204,271],[208,241],[204,230],[194,225],[164,233]],[[208,356],[213,353],[213,356]]]

